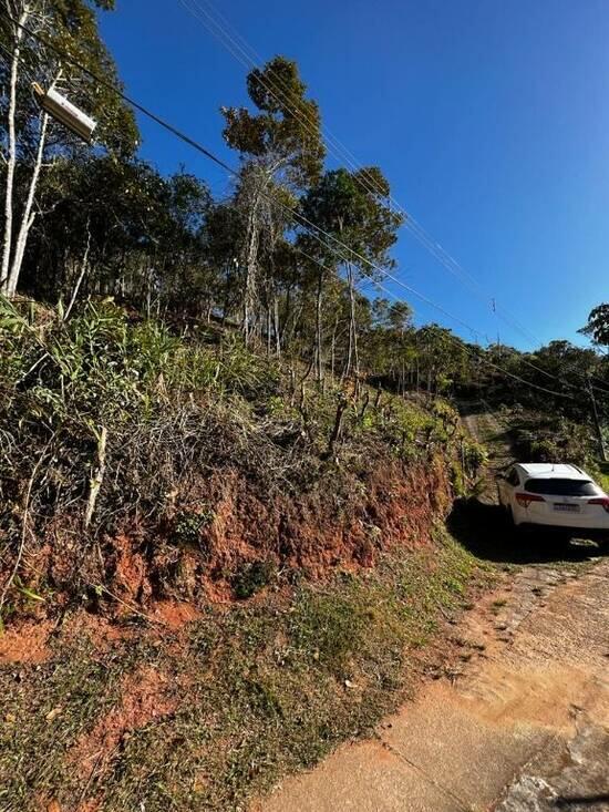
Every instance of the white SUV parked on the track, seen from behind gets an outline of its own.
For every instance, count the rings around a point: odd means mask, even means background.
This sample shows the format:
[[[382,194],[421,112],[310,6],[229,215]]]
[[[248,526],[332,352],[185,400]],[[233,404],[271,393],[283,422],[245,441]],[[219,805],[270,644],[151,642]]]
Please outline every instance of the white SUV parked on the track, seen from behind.
[[[609,496],[577,465],[515,463],[497,476],[499,504],[515,525],[609,537]]]

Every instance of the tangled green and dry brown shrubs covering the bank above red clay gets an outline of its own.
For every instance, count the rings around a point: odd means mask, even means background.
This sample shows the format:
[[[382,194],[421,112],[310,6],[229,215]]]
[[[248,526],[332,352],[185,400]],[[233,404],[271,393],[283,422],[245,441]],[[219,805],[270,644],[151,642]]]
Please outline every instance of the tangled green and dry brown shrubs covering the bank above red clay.
[[[32,537],[40,546],[52,538],[61,558],[53,586],[73,594],[112,577],[120,536],[146,563],[167,541],[198,546],[206,572],[226,574],[203,543],[214,477],[215,500],[235,480],[262,513],[279,494],[329,510],[331,489],[331,521],[350,526],[368,474],[388,454],[409,463],[455,450],[456,413],[444,401],[432,411],[389,393],[358,401],[311,380],[292,407],[295,359],[282,369],[230,332],[215,343],[180,338],[110,299],[85,302],[69,321],[0,300],[0,539],[12,553],[0,567],[14,562],[28,494]],[[342,424],[329,455],[337,404]],[[238,597],[275,577],[265,541],[256,544],[261,561],[242,565],[237,555],[228,565]]]

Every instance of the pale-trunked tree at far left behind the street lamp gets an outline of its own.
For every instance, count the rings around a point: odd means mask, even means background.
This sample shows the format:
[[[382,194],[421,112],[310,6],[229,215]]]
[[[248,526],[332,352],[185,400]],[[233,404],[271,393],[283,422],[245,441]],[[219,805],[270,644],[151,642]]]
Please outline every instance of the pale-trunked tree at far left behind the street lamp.
[[[100,38],[96,14],[113,8],[114,0],[6,0],[0,14],[0,39],[9,54],[0,64],[0,85],[6,89],[0,101],[6,166],[0,292],[8,296],[17,291],[28,238],[40,215],[37,194],[41,173],[62,156],[91,148],[40,110],[31,82],[62,92],[96,119],[100,145],[122,155],[135,147],[133,113],[87,72],[118,84],[114,62]]]

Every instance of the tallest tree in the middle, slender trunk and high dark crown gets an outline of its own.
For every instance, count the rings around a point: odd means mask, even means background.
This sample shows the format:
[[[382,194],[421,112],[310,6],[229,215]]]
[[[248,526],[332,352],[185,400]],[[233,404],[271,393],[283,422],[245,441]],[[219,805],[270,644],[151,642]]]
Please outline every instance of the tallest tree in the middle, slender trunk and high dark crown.
[[[293,225],[290,213],[296,196],[318,179],[324,150],[319,109],[306,97],[307,86],[296,62],[276,56],[262,70],[252,70],[247,91],[256,112],[223,107],[221,113],[225,141],[242,161],[235,203],[246,220],[239,265],[242,329],[249,341],[261,331],[261,255],[266,251],[269,260],[282,234]]]

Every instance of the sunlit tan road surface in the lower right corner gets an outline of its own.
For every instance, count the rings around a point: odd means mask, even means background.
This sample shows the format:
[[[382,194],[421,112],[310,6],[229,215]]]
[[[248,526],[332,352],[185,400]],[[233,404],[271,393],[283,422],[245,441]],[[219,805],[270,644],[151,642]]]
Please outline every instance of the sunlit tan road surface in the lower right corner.
[[[609,559],[525,566],[455,631],[463,672],[262,812],[609,810]]]

